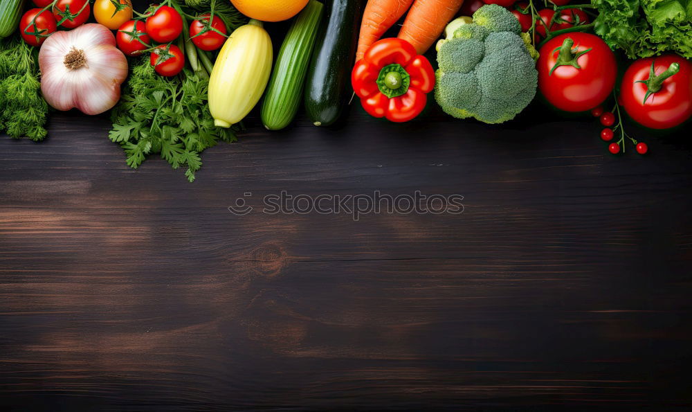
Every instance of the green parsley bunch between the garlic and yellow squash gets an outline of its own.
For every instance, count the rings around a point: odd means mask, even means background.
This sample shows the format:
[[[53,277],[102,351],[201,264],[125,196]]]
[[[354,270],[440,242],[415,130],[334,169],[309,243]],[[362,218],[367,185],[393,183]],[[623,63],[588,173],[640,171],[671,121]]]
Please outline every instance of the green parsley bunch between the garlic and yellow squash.
[[[233,127],[214,125],[207,102],[208,78],[187,67],[181,75],[164,78],[149,58],[132,66],[120,102],[111,112],[111,141],[120,144],[127,165],[138,168],[150,154],[161,154],[172,168],[186,167],[194,181],[201,168],[199,154],[219,140],[236,140]]]

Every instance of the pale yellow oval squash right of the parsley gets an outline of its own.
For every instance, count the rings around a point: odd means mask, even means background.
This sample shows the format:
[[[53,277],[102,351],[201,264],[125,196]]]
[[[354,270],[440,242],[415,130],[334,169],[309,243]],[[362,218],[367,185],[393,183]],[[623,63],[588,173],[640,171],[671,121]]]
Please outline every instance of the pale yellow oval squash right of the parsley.
[[[262,97],[271,73],[271,39],[262,22],[251,20],[228,37],[209,79],[214,124],[238,123]]]

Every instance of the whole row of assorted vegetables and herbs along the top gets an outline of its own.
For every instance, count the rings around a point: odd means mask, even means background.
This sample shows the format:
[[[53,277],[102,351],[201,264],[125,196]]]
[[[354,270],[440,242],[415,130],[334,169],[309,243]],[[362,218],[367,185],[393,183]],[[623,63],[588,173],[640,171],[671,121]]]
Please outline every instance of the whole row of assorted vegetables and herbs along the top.
[[[235,141],[260,100],[280,130],[300,107],[333,125],[358,100],[383,121],[436,103],[504,123],[538,98],[599,118],[612,154],[645,154],[626,117],[673,129],[692,116],[692,2],[569,3],[0,0],[0,132],[41,141],[52,109],[109,111],[127,165],[159,154],[193,181],[201,152]],[[274,55],[265,26],[286,20]]]

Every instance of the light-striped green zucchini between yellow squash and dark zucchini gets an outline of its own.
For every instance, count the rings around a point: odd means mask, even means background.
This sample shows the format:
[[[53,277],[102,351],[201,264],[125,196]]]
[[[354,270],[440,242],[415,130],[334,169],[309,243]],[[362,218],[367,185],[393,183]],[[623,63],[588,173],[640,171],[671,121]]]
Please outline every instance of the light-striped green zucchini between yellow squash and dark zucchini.
[[[260,112],[262,123],[269,130],[288,126],[298,112],[322,8],[322,3],[310,0],[291,24],[279,49]]]

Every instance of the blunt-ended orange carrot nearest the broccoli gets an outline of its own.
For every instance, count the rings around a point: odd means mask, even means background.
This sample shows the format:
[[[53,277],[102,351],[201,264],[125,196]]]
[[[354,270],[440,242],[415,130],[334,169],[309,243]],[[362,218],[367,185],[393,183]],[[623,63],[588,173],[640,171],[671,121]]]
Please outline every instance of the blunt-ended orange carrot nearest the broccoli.
[[[416,0],[397,37],[412,44],[418,54],[425,53],[455,17],[462,3],[464,0]]]

